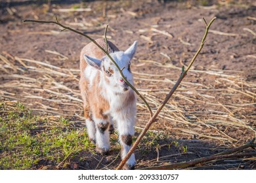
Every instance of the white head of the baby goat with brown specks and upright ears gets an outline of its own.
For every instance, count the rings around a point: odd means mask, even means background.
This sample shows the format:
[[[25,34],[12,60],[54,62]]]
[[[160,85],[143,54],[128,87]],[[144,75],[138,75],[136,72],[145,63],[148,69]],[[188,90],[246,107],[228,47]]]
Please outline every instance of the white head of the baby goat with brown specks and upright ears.
[[[135,41],[125,52],[110,53],[110,56],[116,61],[120,69],[123,69],[123,75],[133,85],[133,75],[131,73],[131,59],[135,55],[137,48],[137,41]],[[123,93],[129,90],[128,84],[123,80],[116,65],[111,61],[108,56],[102,59],[91,58],[84,55],[85,61],[100,70],[103,73],[105,80],[110,84],[117,93]]]

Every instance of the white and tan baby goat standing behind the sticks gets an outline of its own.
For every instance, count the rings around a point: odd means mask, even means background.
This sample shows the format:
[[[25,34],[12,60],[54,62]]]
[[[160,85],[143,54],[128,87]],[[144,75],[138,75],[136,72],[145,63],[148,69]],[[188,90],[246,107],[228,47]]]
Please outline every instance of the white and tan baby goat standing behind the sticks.
[[[96,42],[105,48],[104,39]],[[125,52],[108,41],[108,52],[116,61],[123,75],[133,85],[131,59],[137,48],[135,41]],[[116,65],[93,42],[87,44],[80,56],[81,78],[79,88],[83,98],[83,109],[89,139],[96,143],[96,151],[108,154],[113,121],[117,124],[121,158],[129,152],[135,133],[136,95],[121,77]],[[134,169],[135,155],[127,161],[124,169]]]

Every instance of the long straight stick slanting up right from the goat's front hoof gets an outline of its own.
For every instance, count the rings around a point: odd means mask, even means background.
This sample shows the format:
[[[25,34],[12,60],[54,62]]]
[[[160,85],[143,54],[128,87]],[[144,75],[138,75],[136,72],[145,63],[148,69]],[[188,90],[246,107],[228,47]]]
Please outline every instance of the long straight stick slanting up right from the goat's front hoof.
[[[146,124],[146,126],[144,127],[143,131],[140,133],[139,137],[137,138],[137,140],[135,141],[135,143],[133,144],[133,146],[131,147],[131,149],[129,150],[129,152],[127,153],[127,155],[125,156],[125,158],[123,158],[123,160],[121,161],[121,163],[118,165],[118,167],[116,168],[117,170],[120,170],[123,168],[123,166],[125,165],[126,161],[130,158],[131,154],[133,154],[133,152],[135,151],[135,149],[137,148],[137,146],[139,145],[140,141],[142,140],[142,138],[144,137],[144,135],[146,134],[146,132],[148,131],[148,129],[150,128],[150,126],[156,121],[156,117],[158,116],[158,114],[161,112],[161,109],[165,106],[165,104],[167,103],[167,101],[169,101],[171,95],[173,95],[173,93],[175,92],[175,90],[177,90],[179,84],[181,84],[182,79],[186,76],[186,73],[188,72],[188,70],[190,69],[190,67],[192,66],[192,64],[194,63],[196,57],[198,56],[198,54],[200,53],[200,51],[203,48],[205,39],[207,37],[207,33],[209,30],[209,27],[211,26],[211,24],[213,23],[213,21],[216,19],[213,18],[209,24],[207,24],[207,26],[205,27],[205,33],[203,35],[203,39],[202,42],[200,44],[200,48],[198,49],[198,51],[196,52],[195,56],[192,58],[192,60],[190,61],[190,64],[188,65],[188,68],[186,70],[184,70],[182,68],[182,73],[181,76],[179,77],[179,79],[177,80],[176,84],[173,86],[173,88],[171,89],[171,91],[167,94],[167,96],[165,97],[164,101],[161,103],[160,107],[158,107],[158,109],[156,110],[156,113],[152,116],[152,118],[150,118],[150,120],[148,120],[148,123]]]

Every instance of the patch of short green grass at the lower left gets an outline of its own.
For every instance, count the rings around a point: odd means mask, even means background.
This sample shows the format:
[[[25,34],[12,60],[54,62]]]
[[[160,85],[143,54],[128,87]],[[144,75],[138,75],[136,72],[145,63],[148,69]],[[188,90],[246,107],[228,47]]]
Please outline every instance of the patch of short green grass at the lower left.
[[[58,165],[93,148],[84,130],[68,119],[49,120],[21,103],[0,103],[0,169],[37,169],[41,161]]]

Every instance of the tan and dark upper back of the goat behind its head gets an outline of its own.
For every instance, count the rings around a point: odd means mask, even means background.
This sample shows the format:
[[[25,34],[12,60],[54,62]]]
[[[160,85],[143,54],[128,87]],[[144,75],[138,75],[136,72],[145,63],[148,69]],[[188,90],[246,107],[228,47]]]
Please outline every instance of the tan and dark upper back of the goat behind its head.
[[[102,48],[106,48],[105,40],[100,38],[95,40]],[[115,44],[112,42],[108,41],[108,52],[118,52],[119,49],[116,47]],[[86,54],[89,57],[96,58],[96,59],[101,59],[103,56],[106,54],[98,48],[93,42],[90,42],[89,44],[85,45],[83,49],[81,50],[81,55],[80,55],[80,71],[81,71],[81,76],[83,76],[83,71],[87,67],[87,63],[85,59],[83,58],[83,55]]]

